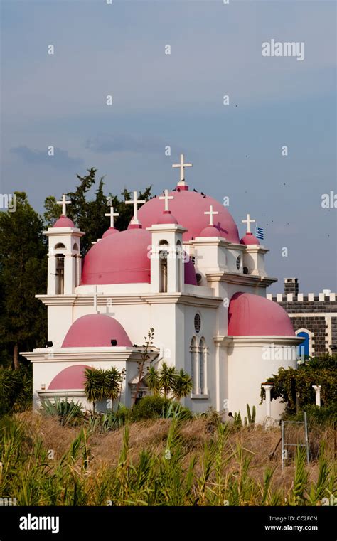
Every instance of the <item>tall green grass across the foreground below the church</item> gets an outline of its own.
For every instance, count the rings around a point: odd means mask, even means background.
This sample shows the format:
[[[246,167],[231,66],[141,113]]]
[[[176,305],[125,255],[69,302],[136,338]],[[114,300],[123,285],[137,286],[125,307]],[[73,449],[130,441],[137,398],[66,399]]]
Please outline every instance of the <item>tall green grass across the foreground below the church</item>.
[[[316,480],[298,450],[294,466],[284,473],[278,469],[284,483],[275,486],[276,464],[264,466],[260,478],[256,475],[258,457],[243,437],[247,429],[242,428],[242,439],[234,439],[229,425],[217,424],[205,437],[203,450],[191,452],[184,435],[186,422],[173,418],[161,423],[168,427],[161,448],[140,446],[136,455],[129,424],[119,429],[119,455],[111,466],[97,462],[95,442],[102,435],[90,427],[68,429],[77,430],[76,436],[62,456],[50,459],[41,429],[28,429],[18,416],[2,419],[0,495],[16,497],[18,505],[222,506],[320,505],[322,498],[336,493],[336,470],[324,446]]]

